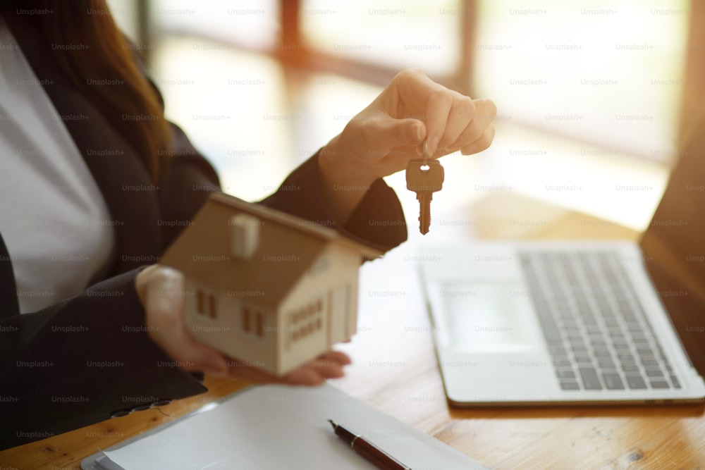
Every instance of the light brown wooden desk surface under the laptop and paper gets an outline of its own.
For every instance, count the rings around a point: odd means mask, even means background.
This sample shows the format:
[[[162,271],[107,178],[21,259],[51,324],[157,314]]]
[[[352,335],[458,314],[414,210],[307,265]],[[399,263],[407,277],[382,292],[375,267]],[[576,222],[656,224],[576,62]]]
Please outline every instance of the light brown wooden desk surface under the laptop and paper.
[[[441,225],[443,224],[443,225]],[[439,214],[431,234],[453,237],[635,240],[612,223],[503,194]],[[409,258],[410,242],[362,268],[359,332],[334,385],[497,469],[699,469],[705,465],[704,407],[453,409],[443,395],[430,324]],[[244,383],[207,378],[210,391],[0,452],[0,469],[78,469],[80,460],[197,409]],[[0,417],[1,419],[1,417]]]

